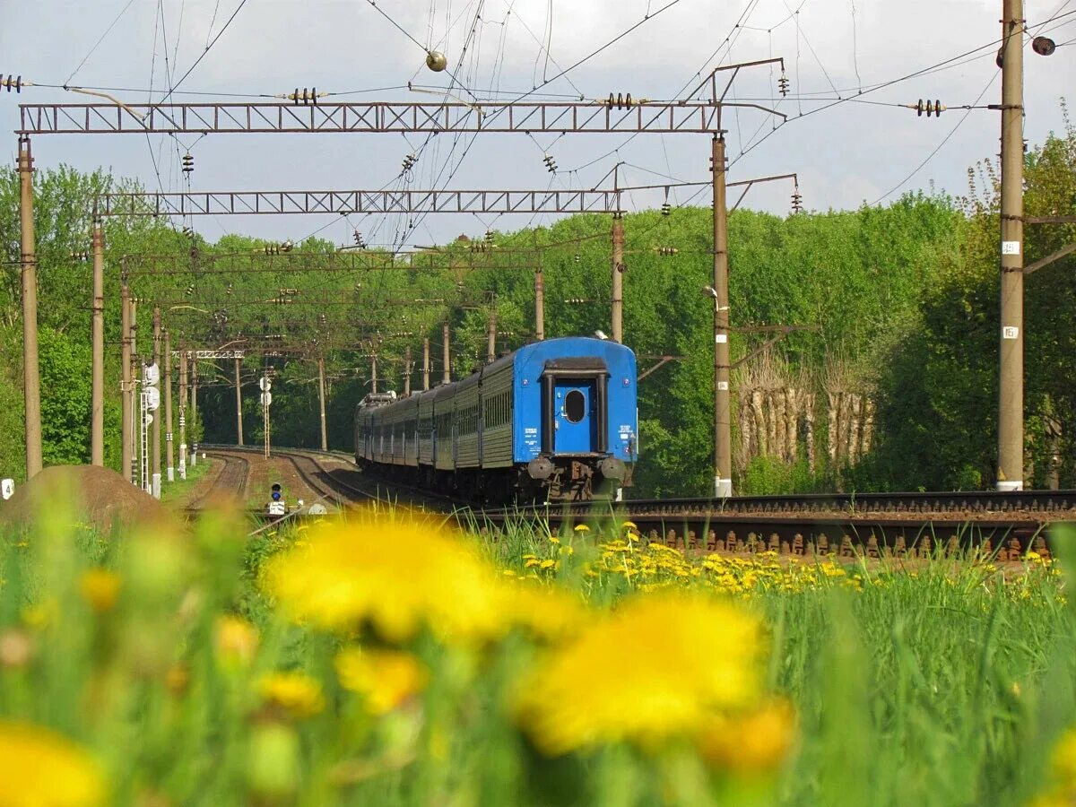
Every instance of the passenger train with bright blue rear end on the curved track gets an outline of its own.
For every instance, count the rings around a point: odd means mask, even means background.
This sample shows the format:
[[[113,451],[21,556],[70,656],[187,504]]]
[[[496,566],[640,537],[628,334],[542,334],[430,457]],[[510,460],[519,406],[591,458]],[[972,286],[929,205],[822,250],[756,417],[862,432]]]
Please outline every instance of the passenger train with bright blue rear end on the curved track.
[[[534,342],[462,381],[355,411],[355,459],[485,501],[579,500],[627,486],[638,454],[635,354],[586,337]]]

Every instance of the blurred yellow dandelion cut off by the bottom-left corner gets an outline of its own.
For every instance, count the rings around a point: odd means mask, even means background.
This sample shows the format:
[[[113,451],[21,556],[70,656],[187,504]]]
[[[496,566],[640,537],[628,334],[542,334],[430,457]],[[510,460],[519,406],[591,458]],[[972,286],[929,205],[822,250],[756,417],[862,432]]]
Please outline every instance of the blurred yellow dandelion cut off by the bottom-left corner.
[[[29,723],[0,721],[0,783],[3,807],[94,807],[105,796],[89,754]]]

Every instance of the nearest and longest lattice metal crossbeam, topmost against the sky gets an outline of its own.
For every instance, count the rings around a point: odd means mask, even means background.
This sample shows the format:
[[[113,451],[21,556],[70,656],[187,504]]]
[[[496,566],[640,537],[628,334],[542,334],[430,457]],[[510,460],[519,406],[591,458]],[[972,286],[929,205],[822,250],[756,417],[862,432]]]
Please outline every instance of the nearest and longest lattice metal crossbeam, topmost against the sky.
[[[225,132],[718,133],[733,103],[27,103],[18,134]],[[746,105],[746,104],[744,104]]]

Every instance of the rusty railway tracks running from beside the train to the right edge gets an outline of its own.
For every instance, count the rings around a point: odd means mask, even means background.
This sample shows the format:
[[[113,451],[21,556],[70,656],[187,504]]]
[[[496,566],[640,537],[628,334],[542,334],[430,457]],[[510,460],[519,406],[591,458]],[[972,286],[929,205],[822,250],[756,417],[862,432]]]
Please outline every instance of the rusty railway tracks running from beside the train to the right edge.
[[[332,457],[351,463],[342,452],[281,449],[279,455],[338,507],[368,500],[408,504],[451,513],[465,527],[486,530],[519,522],[541,522],[553,530],[578,524],[617,529],[631,522],[651,541],[697,551],[882,557],[975,548],[1008,560],[1032,549],[1049,553],[1048,525],[1076,521],[1076,491],[801,494],[479,508],[322,462]],[[386,490],[404,490],[406,498],[392,498]]]

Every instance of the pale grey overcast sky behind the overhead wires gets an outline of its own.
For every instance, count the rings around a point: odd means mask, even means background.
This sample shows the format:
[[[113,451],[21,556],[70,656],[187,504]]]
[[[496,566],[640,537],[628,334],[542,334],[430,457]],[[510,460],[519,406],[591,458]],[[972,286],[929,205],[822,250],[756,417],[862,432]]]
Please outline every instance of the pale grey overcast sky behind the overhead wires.
[[[316,86],[320,91],[351,94],[329,100],[431,101],[439,96],[408,91],[406,85],[444,86],[451,81],[424,67],[424,49],[435,48],[447,55],[450,71],[475,96],[508,99],[561,73],[649,13],[633,32],[540,93],[594,99],[613,91],[670,99],[683,97],[685,88],[697,84],[697,74],[719,63],[783,56],[791,82],[787,99],[777,94],[779,69],[745,70],[735,82],[736,98],[776,105],[789,122],[770,134],[771,117],[754,111],[731,115],[730,180],[798,172],[804,203],[816,210],[855,208],[932,186],[960,194],[966,188],[968,166],[999,151],[997,112],[950,109],[939,119],[928,119],[889,104],[919,98],[937,98],[951,108],[977,99],[980,104],[996,103],[1001,79],[994,65],[996,45],[990,45],[1000,36],[1001,0],[378,0],[377,9],[369,0],[246,0],[225,29],[239,4],[3,0],[0,71],[45,84],[127,88],[115,95],[144,102],[159,99],[161,90],[204,54],[181,90],[277,94]],[[1029,0],[1025,16],[1033,32],[1048,32],[1059,44],[1076,37],[1076,0]],[[861,89],[975,48],[982,49],[946,69],[859,97]],[[1076,47],[1059,47],[1049,58],[1030,48],[1025,54],[1025,132],[1035,143],[1062,127],[1060,99],[1076,76]],[[838,97],[856,100],[807,114]],[[178,98],[220,100],[209,95]],[[19,100],[93,99],[48,88],[27,88],[22,96],[0,94],[0,129],[17,128]],[[184,186],[176,150],[189,147],[196,159],[194,189],[372,189],[400,187],[401,161],[414,151],[419,160],[411,187],[430,187],[437,178],[437,185],[443,186],[468,138],[454,152],[452,136],[437,136],[420,151],[424,139],[218,134],[197,143],[196,137],[182,136],[175,143],[165,137],[147,142],[137,134],[51,136],[36,139],[34,157],[39,167],[105,166],[138,178],[147,188],[176,190]],[[640,134],[626,140],[624,134],[483,134],[448,186],[546,188],[552,182],[553,187],[594,187],[621,160],[629,164],[622,169],[622,184],[661,183],[659,174],[709,178],[709,142],[704,136]],[[2,153],[13,162],[15,151],[12,134]],[[542,162],[547,153],[558,167],[555,175]],[[790,190],[788,184],[758,187],[745,204],[784,213]],[[674,190],[670,200],[682,203],[688,197]],[[661,200],[661,194],[639,194],[631,202],[641,208]],[[708,203],[706,196],[697,200]],[[459,232],[481,235],[487,226],[508,230],[549,221],[428,216],[407,241],[423,244]],[[348,222],[330,216],[233,216],[199,218],[195,226],[211,240],[225,230],[299,239],[324,227],[321,235],[337,242],[350,241],[353,228],[358,228],[369,242],[391,243],[402,238],[398,233],[407,222],[401,216],[352,216]]]

